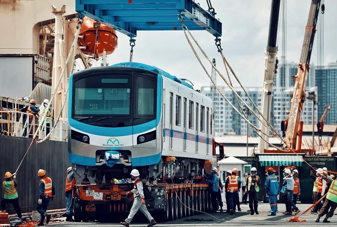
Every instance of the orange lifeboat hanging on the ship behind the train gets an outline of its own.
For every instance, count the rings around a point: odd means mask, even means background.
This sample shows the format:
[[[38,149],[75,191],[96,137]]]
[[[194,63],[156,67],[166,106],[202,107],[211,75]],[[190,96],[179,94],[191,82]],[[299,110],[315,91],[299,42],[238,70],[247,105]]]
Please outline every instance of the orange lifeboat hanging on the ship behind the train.
[[[117,35],[111,27],[86,17],[77,42],[84,54],[98,60],[104,49],[106,55],[113,53],[117,47]]]

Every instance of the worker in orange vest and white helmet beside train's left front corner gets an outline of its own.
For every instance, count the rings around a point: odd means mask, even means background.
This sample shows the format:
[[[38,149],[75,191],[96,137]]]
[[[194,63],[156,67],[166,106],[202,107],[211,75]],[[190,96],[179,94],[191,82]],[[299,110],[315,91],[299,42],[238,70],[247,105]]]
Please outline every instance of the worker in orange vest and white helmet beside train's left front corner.
[[[67,169],[67,177],[65,179],[65,200],[67,202],[67,207],[66,207],[66,222],[74,222],[72,219],[73,216],[73,209],[74,209],[74,200],[72,198],[72,192],[73,192],[73,186],[76,184],[75,180],[75,174],[72,172],[72,168],[69,167]]]

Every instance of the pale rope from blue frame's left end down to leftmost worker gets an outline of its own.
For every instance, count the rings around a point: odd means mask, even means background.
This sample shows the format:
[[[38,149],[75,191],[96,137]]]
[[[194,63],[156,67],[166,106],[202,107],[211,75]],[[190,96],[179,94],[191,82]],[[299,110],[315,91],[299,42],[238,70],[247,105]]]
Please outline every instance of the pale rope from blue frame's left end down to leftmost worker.
[[[68,61],[69,61],[69,58],[70,58],[70,55],[71,55],[72,51],[74,51],[74,52],[73,52],[73,59],[75,58],[75,44],[77,43],[78,34],[79,34],[79,31],[80,31],[80,30],[81,30],[81,23],[79,23],[78,29],[77,29],[77,31],[76,31],[76,33],[75,33],[75,38],[74,38],[74,41],[72,42],[72,46],[71,46],[71,48],[70,48],[68,57],[67,57],[67,59],[66,59],[66,61],[65,61],[65,65],[67,65],[67,63],[68,63]],[[71,68],[73,68],[73,65],[74,65],[73,63],[74,63],[74,62],[72,62],[72,64],[71,64]],[[61,83],[62,76],[63,76],[63,74],[64,74],[65,68],[66,68],[66,67],[64,67],[64,68],[62,69],[60,78],[59,78],[59,80],[58,80],[58,82],[57,82],[57,84],[56,84],[56,87],[55,87],[55,92],[52,94],[51,99],[50,99],[49,104],[47,105],[46,109],[49,109],[49,107],[50,107],[50,105],[51,105],[51,101],[54,99],[55,94],[57,93],[56,90],[57,90],[59,84]],[[68,87],[68,90],[69,90],[69,87]],[[68,90],[66,91],[66,94],[68,93]],[[65,104],[65,102],[64,102],[64,104]],[[62,108],[61,108],[61,112],[62,112],[62,110],[63,110],[63,108],[64,108],[64,104],[63,104],[63,106],[62,106]],[[38,129],[42,126],[42,123],[43,123],[45,117],[46,117],[46,115],[44,114],[43,117],[42,117],[42,119],[41,119],[41,122],[39,123],[39,125],[38,125],[38,127],[37,127]],[[55,124],[54,127],[50,130],[50,132],[49,132],[48,135],[50,135],[50,133],[55,129],[55,127],[56,127],[56,125],[57,125],[57,122],[58,122],[58,119],[59,119],[59,118],[60,118],[60,116],[57,118],[56,124]],[[37,133],[38,133],[38,130],[36,130],[36,132],[34,133],[33,139],[31,140],[31,143],[30,143],[30,145],[29,145],[27,151],[25,152],[25,154],[24,154],[24,156],[23,156],[23,158],[22,158],[20,164],[18,165],[18,167],[17,167],[17,169],[16,169],[16,171],[15,171],[14,174],[16,174],[17,171],[18,171],[18,169],[20,168],[20,166],[21,166],[21,164],[22,164],[24,158],[26,157],[26,155],[27,155],[27,153],[28,153],[28,151],[29,151],[29,149],[30,149],[32,143],[35,141],[35,137],[36,137]],[[47,135],[42,141],[44,141],[46,138],[48,138],[48,135]],[[37,143],[41,143],[42,141],[39,141],[39,142],[37,142]]]

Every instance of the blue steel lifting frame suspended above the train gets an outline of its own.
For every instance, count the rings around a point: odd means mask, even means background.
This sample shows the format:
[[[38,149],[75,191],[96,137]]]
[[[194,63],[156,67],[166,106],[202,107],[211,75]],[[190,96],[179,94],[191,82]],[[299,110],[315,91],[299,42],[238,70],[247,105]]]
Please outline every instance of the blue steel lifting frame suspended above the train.
[[[141,30],[182,30],[181,20],[189,30],[222,35],[222,23],[194,0],[76,0],[76,11],[130,37]]]

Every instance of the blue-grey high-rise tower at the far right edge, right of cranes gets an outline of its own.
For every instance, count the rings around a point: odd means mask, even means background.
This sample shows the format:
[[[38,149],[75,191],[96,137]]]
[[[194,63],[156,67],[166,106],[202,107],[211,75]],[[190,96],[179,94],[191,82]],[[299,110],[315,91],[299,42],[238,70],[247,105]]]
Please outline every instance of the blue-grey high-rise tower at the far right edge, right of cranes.
[[[318,115],[322,116],[325,106],[331,104],[325,124],[337,124],[337,62],[316,68]]]

